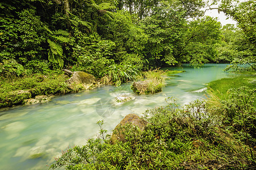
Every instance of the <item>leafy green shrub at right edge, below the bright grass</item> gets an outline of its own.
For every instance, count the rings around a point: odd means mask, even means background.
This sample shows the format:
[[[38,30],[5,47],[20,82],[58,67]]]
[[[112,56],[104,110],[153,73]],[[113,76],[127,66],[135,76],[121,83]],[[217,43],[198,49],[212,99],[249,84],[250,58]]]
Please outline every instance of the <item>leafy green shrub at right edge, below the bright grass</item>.
[[[228,99],[221,100],[223,122],[234,137],[246,145],[256,145],[256,88],[231,88]]]

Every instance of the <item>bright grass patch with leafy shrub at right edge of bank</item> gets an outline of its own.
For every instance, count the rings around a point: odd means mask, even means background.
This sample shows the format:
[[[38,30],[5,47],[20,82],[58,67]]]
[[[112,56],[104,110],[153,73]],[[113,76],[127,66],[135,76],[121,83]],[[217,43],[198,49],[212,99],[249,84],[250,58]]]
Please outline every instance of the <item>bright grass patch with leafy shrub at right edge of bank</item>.
[[[237,140],[256,145],[256,77],[241,75],[208,84],[208,105],[212,114],[222,117],[222,124]]]

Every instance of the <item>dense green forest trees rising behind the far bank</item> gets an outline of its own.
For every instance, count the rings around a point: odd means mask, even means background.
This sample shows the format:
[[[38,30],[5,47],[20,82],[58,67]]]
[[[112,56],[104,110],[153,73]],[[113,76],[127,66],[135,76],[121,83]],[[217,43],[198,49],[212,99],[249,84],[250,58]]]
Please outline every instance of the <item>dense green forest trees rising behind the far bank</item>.
[[[209,3],[203,0],[3,0],[0,74],[65,68],[100,78],[208,62],[255,70],[256,2],[235,2],[220,1],[218,8],[237,27],[204,16]]]

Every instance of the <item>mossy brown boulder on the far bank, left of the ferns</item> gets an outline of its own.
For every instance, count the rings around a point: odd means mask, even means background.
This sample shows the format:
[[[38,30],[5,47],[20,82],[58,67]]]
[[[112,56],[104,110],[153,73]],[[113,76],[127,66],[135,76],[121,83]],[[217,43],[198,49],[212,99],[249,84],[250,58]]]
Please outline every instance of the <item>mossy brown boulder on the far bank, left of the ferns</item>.
[[[82,86],[84,89],[89,89],[95,83],[95,77],[83,71],[74,71],[72,77],[66,80],[69,88],[74,90],[77,86]]]

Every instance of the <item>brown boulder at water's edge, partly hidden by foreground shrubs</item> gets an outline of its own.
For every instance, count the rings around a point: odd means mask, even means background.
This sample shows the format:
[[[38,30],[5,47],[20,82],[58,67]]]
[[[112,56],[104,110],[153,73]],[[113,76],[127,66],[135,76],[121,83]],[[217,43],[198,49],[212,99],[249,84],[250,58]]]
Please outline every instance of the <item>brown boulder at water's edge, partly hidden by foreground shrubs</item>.
[[[126,142],[123,134],[123,131],[125,131],[125,129],[123,127],[128,124],[132,126],[137,126],[142,131],[149,123],[137,116],[136,114],[128,114],[113,130],[113,134],[111,136],[112,143],[115,144],[117,141]]]

